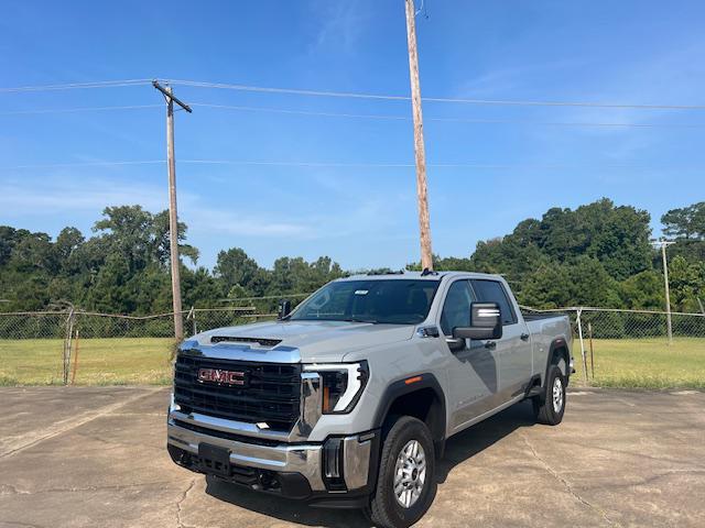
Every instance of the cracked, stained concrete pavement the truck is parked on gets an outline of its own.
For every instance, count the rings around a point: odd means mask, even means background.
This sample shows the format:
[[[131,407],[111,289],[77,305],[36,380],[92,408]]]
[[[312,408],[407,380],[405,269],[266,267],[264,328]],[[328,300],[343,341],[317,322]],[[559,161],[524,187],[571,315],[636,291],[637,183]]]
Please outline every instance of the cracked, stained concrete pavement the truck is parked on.
[[[172,464],[167,388],[0,388],[0,528],[369,528],[356,512]],[[448,441],[419,526],[705,526],[703,408],[699,392],[581,389],[551,428],[514,406]]]

